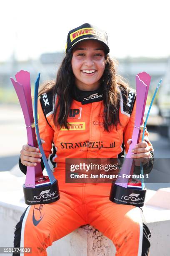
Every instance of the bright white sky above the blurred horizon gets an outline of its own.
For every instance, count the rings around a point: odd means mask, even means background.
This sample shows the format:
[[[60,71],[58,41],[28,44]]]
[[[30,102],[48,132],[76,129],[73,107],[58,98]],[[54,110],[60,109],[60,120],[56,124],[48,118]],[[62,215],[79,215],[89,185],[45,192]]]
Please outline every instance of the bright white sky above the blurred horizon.
[[[64,51],[67,33],[83,23],[105,30],[110,55],[170,56],[167,0],[1,0],[0,61]]]

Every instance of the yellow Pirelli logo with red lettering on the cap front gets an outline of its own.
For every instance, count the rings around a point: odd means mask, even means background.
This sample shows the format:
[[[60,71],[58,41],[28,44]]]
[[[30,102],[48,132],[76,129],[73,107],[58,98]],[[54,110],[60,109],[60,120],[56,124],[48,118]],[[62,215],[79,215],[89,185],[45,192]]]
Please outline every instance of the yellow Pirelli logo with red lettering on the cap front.
[[[84,36],[84,35],[97,35],[100,38],[104,39],[104,33],[101,33],[100,31],[97,31],[95,28],[81,28],[73,33],[70,34],[70,40],[71,42],[74,41],[76,38],[79,36]]]

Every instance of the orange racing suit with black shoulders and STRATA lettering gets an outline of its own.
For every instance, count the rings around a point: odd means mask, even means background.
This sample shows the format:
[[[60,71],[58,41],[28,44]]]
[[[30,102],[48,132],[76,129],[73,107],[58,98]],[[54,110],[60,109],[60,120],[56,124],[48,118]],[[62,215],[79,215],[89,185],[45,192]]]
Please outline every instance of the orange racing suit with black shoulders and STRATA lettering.
[[[150,230],[143,220],[141,208],[111,202],[110,183],[65,182],[66,158],[117,158],[123,153],[123,147],[128,151],[127,141],[132,138],[135,121],[135,91],[129,92],[127,104],[120,89],[121,125],[118,124],[117,129],[113,127],[111,132],[104,131],[103,127],[102,92],[81,92],[79,96],[74,98],[70,108],[68,130],[56,128],[53,123],[51,93],[41,95],[38,101],[40,137],[46,142],[42,146],[46,157],[50,156],[52,161],[60,200],[28,206],[16,225],[14,246],[32,247],[32,255],[45,256],[46,248],[53,241],[81,225],[90,224],[113,241],[116,255],[147,256]],[[153,151],[147,130],[145,139]],[[20,162],[20,169],[24,167]]]

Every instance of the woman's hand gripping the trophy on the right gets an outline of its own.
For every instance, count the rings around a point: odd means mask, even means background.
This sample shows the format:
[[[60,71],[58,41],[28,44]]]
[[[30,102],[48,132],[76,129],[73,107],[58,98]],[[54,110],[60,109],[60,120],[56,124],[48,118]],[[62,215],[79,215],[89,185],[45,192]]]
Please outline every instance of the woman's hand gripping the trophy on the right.
[[[128,140],[128,144],[130,145],[132,140]],[[143,164],[148,163],[150,159],[150,146],[148,146],[148,143],[146,141],[139,142],[135,145],[135,148],[131,151],[133,154],[131,157],[135,159],[135,165],[140,166],[140,162],[142,160]],[[142,159],[141,159],[142,158]]]

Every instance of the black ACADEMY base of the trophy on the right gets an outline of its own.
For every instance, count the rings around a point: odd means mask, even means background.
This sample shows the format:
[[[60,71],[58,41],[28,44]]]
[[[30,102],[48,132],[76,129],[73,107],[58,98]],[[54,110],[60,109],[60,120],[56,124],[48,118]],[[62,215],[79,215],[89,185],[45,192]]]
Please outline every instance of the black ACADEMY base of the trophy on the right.
[[[109,199],[116,204],[142,207],[145,202],[146,190],[146,188],[133,189],[112,184]]]

